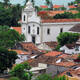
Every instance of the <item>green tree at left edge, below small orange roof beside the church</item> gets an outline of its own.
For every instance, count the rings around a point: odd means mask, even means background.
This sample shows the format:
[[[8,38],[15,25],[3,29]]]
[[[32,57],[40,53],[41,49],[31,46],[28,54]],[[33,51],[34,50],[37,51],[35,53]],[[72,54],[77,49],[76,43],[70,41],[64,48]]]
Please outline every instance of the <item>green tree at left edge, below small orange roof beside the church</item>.
[[[9,29],[7,31],[0,31],[0,46],[5,48],[12,48],[19,41],[23,41],[24,36],[17,31]]]

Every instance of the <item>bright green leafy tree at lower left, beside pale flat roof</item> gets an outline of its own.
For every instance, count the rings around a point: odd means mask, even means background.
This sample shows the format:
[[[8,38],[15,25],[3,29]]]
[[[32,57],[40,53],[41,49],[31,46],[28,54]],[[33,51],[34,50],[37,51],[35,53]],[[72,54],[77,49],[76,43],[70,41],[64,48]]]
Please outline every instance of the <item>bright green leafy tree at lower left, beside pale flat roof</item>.
[[[31,67],[27,62],[17,64],[11,71],[12,76],[18,77],[20,80],[31,80],[32,73],[29,71]]]

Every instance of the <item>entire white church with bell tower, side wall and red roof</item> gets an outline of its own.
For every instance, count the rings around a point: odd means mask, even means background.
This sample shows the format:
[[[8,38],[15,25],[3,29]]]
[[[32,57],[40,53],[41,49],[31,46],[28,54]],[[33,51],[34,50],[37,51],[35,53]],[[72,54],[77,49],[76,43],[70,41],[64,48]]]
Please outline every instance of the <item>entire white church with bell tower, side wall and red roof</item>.
[[[69,32],[69,29],[79,23],[80,19],[42,20],[30,1],[22,10],[21,29],[26,42],[39,44],[57,41],[60,32]]]

